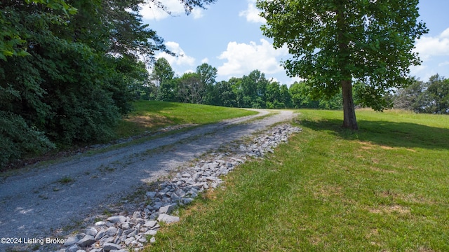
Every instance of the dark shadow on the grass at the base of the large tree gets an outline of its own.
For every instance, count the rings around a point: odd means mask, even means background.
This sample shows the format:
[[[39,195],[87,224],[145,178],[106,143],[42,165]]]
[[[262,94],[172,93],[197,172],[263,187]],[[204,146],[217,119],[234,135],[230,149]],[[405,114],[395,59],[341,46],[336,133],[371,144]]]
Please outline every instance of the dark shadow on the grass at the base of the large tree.
[[[415,123],[358,120],[358,131],[342,127],[342,120],[302,120],[302,125],[347,140],[369,141],[390,147],[449,149],[449,129]]]

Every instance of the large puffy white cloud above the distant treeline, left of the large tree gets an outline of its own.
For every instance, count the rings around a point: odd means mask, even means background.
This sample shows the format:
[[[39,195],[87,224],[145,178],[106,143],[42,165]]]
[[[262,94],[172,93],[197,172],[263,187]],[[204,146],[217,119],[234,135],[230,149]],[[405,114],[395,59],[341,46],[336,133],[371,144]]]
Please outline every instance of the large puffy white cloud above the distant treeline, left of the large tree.
[[[262,73],[279,73],[283,71],[277,57],[288,55],[287,48],[275,50],[271,43],[260,39],[260,45],[251,41],[247,43],[229,42],[227,49],[218,59],[226,59],[222,66],[217,68],[220,76],[241,76],[253,70]]]

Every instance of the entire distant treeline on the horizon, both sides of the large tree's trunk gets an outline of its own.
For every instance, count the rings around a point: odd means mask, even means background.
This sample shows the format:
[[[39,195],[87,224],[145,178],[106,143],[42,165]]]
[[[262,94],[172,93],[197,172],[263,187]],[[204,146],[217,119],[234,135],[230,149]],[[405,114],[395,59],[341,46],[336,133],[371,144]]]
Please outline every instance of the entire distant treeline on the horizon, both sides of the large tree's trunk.
[[[253,109],[331,109],[340,110],[342,93],[329,98],[317,98],[307,82],[295,82],[290,87],[267,79],[259,70],[241,78],[215,81],[217,69],[207,63],[193,73],[175,76],[169,62],[157,59],[149,75],[149,83],[135,90],[135,99],[163,102],[186,102]],[[412,79],[412,85],[384,95],[382,106],[406,109],[416,113],[449,113],[449,79],[438,74],[429,81]],[[366,86],[354,83],[354,104],[366,107]]]

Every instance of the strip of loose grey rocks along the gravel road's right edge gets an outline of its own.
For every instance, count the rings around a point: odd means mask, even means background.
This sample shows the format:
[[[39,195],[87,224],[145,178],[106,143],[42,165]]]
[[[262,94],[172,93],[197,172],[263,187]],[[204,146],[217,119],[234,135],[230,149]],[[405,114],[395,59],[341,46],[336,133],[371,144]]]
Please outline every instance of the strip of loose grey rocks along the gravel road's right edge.
[[[135,211],[133,216],[112,216],[99,221],[85,232],[68,237],[58,252],[140,251],[145,243],[156,241],[159,223],[180,221],[170,215],[173,209],[191,203],[204,190],[217,188],[223,182],[220,176],[245,162],[247,156],[262,158],[265,153],[273,153],[273,148],[286,142],[290,134],[300,131],[298,127],[279,125],[255,138],[253,144],[239,146],[239,151],[201,160],[172,180],[160,183],[157,190],[147,192],[150,203],[141,211]]]

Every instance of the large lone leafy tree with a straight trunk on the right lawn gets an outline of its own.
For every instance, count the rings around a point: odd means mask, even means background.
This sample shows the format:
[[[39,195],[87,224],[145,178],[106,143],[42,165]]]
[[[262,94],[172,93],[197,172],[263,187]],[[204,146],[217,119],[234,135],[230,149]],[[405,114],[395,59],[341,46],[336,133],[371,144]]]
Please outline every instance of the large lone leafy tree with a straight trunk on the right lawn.
[[[427,32],[418,0],[258,0],[264,35],[287,46],[290,76],[307,80],[316,97],[343,94],[343,126],[357,130],[352,82],[365,83],[366,106],[387,106],[384,94],[410,83],[420,64],[415,39]]]

